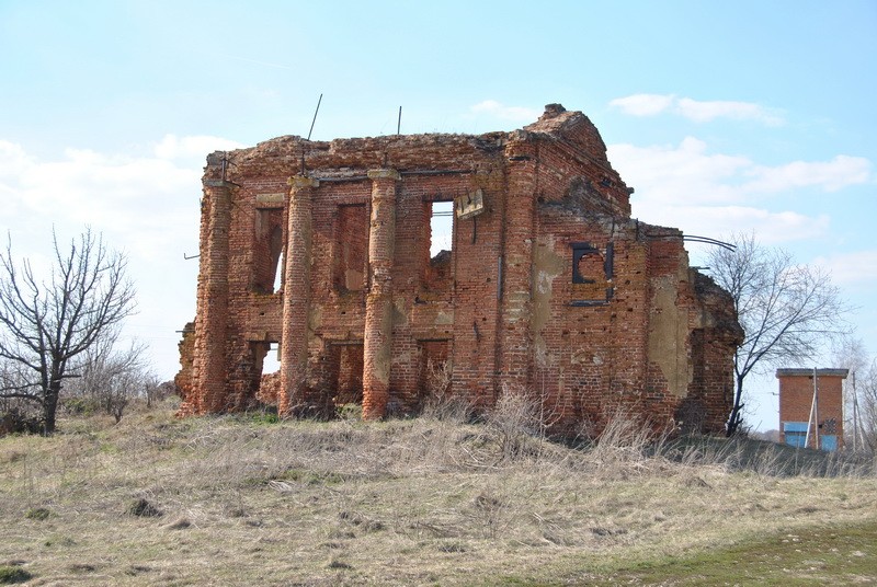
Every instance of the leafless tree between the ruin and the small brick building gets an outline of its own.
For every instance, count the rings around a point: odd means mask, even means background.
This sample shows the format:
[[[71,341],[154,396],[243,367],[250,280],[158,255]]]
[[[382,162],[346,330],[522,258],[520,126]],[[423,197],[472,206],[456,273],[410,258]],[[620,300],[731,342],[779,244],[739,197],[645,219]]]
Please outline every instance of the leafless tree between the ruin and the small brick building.
[[[786,251],[762,246],[752,234],[737,234],[731,242],[736,250],[716,248],[709,254],[713,278],[731,294],[744,332],[734,354],[728,436],[743,422],[747,377],[817,356],[847,333],[845,314],[851,310],[820,268],[798,265]]]

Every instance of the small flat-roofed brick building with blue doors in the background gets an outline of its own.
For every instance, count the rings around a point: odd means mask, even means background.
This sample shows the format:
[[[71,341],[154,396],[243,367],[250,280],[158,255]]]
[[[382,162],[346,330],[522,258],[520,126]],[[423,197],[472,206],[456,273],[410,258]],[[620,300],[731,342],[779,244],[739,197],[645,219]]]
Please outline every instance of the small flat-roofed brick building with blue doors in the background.
[[[847,373],[847,369],[776,370],[781,442],[822,450],[843,448],[843,380]],[[815,387],[817,402],[811,415]]]

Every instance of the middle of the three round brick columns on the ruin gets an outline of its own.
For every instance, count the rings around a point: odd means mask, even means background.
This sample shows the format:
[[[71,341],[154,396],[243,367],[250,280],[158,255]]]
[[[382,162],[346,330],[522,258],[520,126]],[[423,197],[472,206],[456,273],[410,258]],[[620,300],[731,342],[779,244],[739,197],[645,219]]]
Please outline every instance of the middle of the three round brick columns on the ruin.
[[[289,179],[289,214],[283,281],[281,390],[277,411],[289,416],[305,400],[310,311],[311,196],[320,182],[305,175]]]

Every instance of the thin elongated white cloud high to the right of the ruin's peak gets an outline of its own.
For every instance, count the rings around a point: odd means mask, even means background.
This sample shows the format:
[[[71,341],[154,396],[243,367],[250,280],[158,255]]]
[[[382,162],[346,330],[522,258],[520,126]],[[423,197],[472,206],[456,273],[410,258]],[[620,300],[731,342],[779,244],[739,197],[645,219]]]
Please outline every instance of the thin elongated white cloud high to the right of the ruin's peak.
[[[674,94],[633,94],[610,102],[630,116],[656,116],[672,112],[695,123],[708,123],[716,118],[755,120],[767,126],[779,126],[783,117],[775,111],[751,102],[698,101],[676,97]]]

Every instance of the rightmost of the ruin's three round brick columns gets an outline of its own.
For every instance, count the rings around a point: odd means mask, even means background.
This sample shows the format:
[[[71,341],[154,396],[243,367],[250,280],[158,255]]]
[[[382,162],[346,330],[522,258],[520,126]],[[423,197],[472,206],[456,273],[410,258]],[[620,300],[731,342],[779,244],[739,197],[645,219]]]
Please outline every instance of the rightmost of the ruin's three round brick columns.
[[[387,412],[392,347],[392,256],[396,240],[396,170],[368,172],[372,221],[368,230],[368,295],[363,336],[363,418]]]

